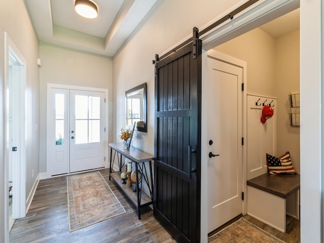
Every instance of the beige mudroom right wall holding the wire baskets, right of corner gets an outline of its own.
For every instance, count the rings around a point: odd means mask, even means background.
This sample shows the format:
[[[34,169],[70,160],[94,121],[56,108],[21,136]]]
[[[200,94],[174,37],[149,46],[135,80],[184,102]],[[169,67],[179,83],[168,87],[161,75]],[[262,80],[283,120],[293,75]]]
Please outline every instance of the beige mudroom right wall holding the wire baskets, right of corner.
[[[300,128],[289,124],[288,95],[300,91],[299,30],[275,39],[275,96],[277,113],[277,153],[290,152],[293,166],[300,173]]]

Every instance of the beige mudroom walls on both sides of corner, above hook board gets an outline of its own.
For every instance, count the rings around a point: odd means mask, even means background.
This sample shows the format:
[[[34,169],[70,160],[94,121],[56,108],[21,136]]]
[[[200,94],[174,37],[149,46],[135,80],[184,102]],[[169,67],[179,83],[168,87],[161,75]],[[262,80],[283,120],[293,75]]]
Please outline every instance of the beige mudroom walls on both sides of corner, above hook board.
[[[300,172],[299,127],[289,125],[288,95],[299,91],[299,30],[273,38],[256,28],[215,48],[247,62],[248,94],[277,98],[277,156],[291,153]]]

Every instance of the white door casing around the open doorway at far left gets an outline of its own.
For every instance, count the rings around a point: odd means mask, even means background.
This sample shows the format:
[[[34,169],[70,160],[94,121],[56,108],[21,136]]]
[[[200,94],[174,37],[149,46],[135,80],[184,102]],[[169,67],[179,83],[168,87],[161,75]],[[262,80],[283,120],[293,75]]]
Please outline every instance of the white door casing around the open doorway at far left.
[[[5,161],[5,168],[4,168],[4,185],[6,189],[4,190],[4,202],[5,202],[5,230],[6,230],[6,237],[7,233],[9,235],[9,196],[8,190],[9,188],[9,149],[10,149],[10,142],[9,142],[9,61],[10,55],[14,55],[16,60],[19,60],[20,65],[20,76],[19,78],[19,123],[16,123],[16,129],[19,129],[19,141],[18,141],[18,157],[19,161],[16,161],[13,168],[19,168],[19,170],[13,170],[13,184],[19,185],[18,188],[14,188],[16,190],[16,196],[14,198],[13,195],[13,218],[23,218],[26,216],[26,97],[25,97],[25,89],[26,89],[26,69],[27,69],[27,62],[23,55],[20,53],[19,49],[16,47],[15,43],[10,38],[9,34],[5,32],[5,92],[4,92],[4,107],[5,108],[5,130],[4,130],[4,139],[5,139],[5,151],[4,151],[4,161]]]

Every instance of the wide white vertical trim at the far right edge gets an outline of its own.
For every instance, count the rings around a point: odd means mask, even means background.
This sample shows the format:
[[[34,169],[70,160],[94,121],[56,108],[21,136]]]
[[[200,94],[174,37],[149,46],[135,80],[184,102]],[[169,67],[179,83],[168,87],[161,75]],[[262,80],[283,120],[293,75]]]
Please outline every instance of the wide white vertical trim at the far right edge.
[[[301,242],[323,242],[322,2],[300,1]]]

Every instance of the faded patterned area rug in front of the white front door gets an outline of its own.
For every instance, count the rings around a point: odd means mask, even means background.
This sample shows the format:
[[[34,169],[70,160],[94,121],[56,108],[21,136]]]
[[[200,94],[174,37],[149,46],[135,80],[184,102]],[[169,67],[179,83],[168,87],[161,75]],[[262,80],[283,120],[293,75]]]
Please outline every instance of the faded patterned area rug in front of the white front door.
[[[70,231],[126,213],[99,172],[68,176],[67,201]]]

